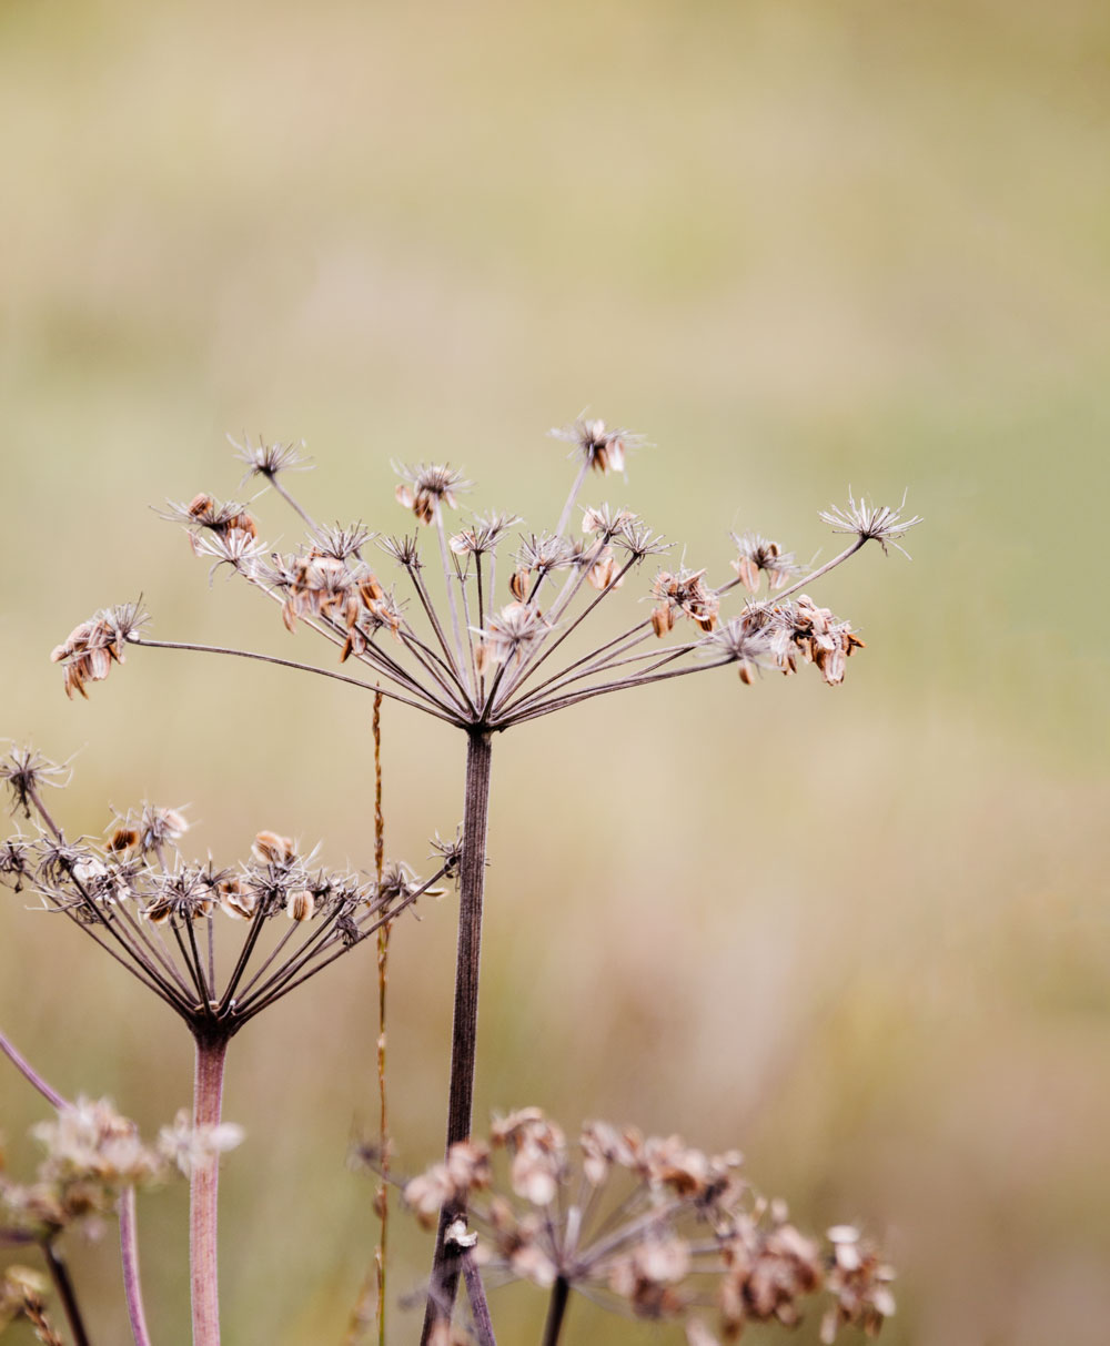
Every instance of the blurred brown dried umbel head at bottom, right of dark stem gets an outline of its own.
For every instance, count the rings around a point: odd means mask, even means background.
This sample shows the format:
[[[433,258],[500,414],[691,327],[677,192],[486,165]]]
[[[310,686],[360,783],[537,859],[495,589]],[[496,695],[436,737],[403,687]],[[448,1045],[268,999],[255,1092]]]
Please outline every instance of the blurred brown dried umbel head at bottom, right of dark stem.
[[[823,1342],[846,1326],[874,1335],[894,1312],[890,1268],[849,1226],[824,1246],[802,1234],[741,1166],[736,1151],[602,1121],[582,1128],[573,1155],[558,1125],[524,1108],[494,1119],[488,1140],[453,1145],[404,1199],[424,1228],[443,1206],[469,1206],[477,1238],[459,1224],[453,1240],[486,1272],[682,1322],[694,1346],[736,1341],[749,1323],[792,1326],[820,1292]]]

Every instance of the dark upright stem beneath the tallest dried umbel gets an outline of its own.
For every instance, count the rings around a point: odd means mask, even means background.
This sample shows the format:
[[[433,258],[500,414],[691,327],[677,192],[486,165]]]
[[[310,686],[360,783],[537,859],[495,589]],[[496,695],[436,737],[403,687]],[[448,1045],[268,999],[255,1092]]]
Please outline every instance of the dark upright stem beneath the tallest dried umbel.
[[[470,1135],[474,1104],[474,1061],[478,1042],[478,961],[482,944],[486,826],[489,820],[489,735],[471,730],[466,750],[466,797],[462,814],[459,865],[458,952],[455,957],[455,1014],[451,1028],[451,1082],[447,1094],[447,1149]],[[450,1322],[458,1292],[458,1254],[447,1248],[446,1233],[465,1217],[462,1202],[449,1202],[439,1215],[431,1288],[424,1312],[422,1346],[432,1326]]]

